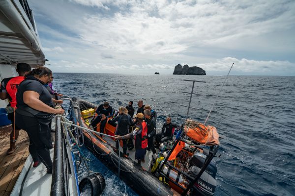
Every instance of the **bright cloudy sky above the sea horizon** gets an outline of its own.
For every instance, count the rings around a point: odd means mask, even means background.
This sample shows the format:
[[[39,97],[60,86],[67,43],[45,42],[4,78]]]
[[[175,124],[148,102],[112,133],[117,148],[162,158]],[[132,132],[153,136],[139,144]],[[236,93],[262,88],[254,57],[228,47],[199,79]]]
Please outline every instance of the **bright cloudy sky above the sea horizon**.
[[[28,0],[54,72],[295,75],[295,0]]]

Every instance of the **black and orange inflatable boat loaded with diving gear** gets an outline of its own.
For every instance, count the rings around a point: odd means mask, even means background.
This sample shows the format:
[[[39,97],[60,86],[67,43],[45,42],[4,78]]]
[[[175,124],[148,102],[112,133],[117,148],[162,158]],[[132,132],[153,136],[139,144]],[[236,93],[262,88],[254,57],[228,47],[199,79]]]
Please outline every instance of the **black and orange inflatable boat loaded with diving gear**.
[[[216,163],[219,136],[213,126],[187,120],[173,140],[160,144],[158,152],[148,151],[145,162],[139,165],[135,151],[119,156],[116,141],[99,134],[99,123],[94,131],[89,123],[95,117],[97,105],[72,98],[78,107],[70,112],[70,120],[80,123],[84,145],[110,170],[141,196],[211,196],[216,187]],[[107,120],[105,134],[114,136],[116,124]],[[120,148],[121,150],[122,148]],[[123,154],[123,152],[120,152]]]

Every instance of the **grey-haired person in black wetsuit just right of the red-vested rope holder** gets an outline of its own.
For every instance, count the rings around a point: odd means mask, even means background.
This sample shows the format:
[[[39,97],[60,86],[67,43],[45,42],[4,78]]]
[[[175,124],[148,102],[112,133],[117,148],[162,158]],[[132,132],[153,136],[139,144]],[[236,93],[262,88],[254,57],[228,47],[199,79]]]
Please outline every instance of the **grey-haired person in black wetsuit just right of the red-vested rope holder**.
[[[154,139],[153,136],[156,133],[156,120],[151,116],[151,112],[147,109],[144,111],[145,114],[145,122],[148,126],[148,147],[147,150],[151,150],[152,153],[156,153],[156,149],[154,147]]]

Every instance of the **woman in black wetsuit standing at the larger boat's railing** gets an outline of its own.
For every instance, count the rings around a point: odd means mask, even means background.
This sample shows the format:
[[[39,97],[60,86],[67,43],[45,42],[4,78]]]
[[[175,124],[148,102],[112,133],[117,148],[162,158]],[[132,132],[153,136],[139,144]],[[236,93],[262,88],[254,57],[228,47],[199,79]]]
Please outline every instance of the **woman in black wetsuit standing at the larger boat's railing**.
[[[52,148],[51,120],[54,114],[62,114],[64,110],[53,108],[53,103],[62,100],[53,99],[44,86],[52,81],[52,71],[46,67],[38,67],[30,71],[20,83],[16,94],[16,125],[27,131],[29,148],[36,151],[41,162],[52,173],[52,161],[49,149]]]

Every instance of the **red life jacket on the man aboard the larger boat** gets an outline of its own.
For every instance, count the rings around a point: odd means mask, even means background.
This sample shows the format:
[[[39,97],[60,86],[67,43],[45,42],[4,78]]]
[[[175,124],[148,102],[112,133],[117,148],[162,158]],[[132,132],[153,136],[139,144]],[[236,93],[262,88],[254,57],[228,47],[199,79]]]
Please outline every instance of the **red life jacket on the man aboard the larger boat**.
[[[11,98],[10,106],[16,108],[16,92],[17,92],[17,88],[20,85],[20,83],[25,79],[24,76],[16,76],[11,78],[6,86],[5,89],[8,93],[8,95]]]

